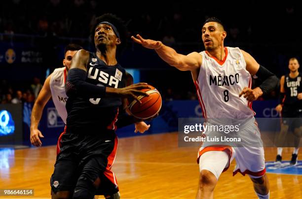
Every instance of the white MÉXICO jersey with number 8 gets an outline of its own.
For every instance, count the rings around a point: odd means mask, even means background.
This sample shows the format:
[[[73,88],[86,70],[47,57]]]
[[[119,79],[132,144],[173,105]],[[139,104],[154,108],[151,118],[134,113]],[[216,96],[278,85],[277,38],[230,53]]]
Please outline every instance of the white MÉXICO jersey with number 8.
[[[252,118],[252,103],[239,93],[251,88],[251,74],[239,48],[225,47],[224,60],[218,61],[206,51],[200,52],[202,64],[195,82],[200,107],[205,118]]]

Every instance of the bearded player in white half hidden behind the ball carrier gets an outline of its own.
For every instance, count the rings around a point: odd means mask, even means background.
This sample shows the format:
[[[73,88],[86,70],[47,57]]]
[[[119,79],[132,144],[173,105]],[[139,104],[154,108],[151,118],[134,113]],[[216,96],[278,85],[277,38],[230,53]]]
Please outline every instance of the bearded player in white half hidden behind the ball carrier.
[[[69,44],[65,47],[65,58],[63,60],[64,67],[56,68],[45,80],[44,85],[35,101],[32,117],[31,117],[31,143],[34,146],[41,146],[42,142],[40,137],[44,137],[43,134],[38,130],[38,124],[40,122],[43,108],[47,101],[52,97],[53,103],[58,111],[58,114],[62,118],[63,122],[66,124],[67,111],[66,111],[66,100],[68,99],[65,93],[65,81],[67,77],[68,70],[71,66],[71,61],[80,49],[81,46],[76,44]],[[145,122],[135,123],[135,133],[144,133],[150,128]],[[57,145],[57,153],[60,152],[59,142]]]

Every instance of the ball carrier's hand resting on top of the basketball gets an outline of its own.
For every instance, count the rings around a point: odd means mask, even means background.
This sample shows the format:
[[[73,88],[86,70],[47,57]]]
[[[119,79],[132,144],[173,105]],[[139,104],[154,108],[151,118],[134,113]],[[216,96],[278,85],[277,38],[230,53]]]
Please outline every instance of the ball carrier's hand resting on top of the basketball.
[[[141,91],[142,89],[151,89],[151,87],[147,83],[132,84],[130,86],[118,89],[118,95],[123,98],[133,98],[142,103],[139,96],[149,96],[149,94],[146,92]]]

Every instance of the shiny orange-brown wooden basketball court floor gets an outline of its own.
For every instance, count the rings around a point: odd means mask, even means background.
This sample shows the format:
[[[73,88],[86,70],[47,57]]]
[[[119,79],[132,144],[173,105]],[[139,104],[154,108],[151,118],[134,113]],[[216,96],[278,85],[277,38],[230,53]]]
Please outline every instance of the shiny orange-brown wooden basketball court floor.
[[[177,133],[120,138],[113,171],[117,176],[121,198],[195,198],[199,173],[197,151],[195,147],[179,148]],[[291,153],[291,148],[285,148],[283,159],[289,160]],[[55,154],[55,146],[2,150],[0,189],[35,190],[34,197],[9,198],[50,198],[49,178],[53,172]],[[265,148],[266,161],[274,161],[275,155],[276,148]],[[235,161],[221,175],[214,198],[257,199],[248,176],[239,173],[232,176],[234,166]],[[268,178],[271,199],[302,199],[302,175],[268,174]]]

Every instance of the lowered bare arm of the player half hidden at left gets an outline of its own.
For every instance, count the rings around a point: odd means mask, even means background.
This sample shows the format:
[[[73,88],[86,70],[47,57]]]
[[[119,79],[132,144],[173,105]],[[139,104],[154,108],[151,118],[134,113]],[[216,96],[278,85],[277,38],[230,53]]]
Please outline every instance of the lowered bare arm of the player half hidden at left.
[[[50,85],[49,85],[51,76],[52,76],[52,74],[50,74],[46,78],[44,85],[35,101],[35,104],[34,104],[34,107],[32,110],[30,139],[31,139],[31,143],[34,146],[41,146],[42,142],[40,140],[40,137],[44,137],[42,135],[42,133],[38,130],[38,124],[41,120],[43,108],[51,97],[51,91],[50,91]]]

